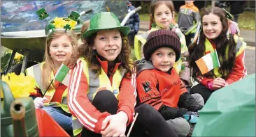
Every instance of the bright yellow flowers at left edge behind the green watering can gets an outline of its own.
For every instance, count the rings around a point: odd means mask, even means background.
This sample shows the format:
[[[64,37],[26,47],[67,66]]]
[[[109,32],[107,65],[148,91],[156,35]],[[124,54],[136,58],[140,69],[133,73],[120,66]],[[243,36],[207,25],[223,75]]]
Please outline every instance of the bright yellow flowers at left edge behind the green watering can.
[[[32,76],[24,76],[24,73],[16,75],[14,72],[2,76],[2,80],[8,83],[13,97],[29,97],[30,93],[36,93],[35,79]],[[3,93],[1,92],[3,98]]]

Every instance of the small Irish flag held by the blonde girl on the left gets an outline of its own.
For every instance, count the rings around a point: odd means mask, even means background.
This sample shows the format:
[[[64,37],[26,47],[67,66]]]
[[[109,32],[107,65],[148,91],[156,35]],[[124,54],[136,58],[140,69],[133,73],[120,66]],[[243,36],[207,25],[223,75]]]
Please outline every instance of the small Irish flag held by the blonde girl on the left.
[[[59,70],[55,74],[54,79],[56,81],[63,83],[66,86],[69,86],[69,77],[70,77],[69,67],[67,67],[62,63],[62,65],[59,67]]]

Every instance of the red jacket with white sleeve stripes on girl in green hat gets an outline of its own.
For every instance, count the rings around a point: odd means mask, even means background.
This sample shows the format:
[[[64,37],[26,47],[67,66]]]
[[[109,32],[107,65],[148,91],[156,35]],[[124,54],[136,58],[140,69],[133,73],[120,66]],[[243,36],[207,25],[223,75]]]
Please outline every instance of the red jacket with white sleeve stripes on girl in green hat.
[[[97,58],[104,72],[108,74],[108,62],[101,61]],[[121,63],[117,63],[113,72],[118,69]],[[128,74],[127,74],[128,76]],[[113,76],[108,77],[112,84]],[[72,87],[73,86],[73,87]],[[83,72],[83,63],[80,59],[77,65],[71,70],[71,80],[69,81],[68,105],[69,111],[73,116],[78,118],[79,122],[90,131],[97,134],[100,133],[102,121],[110,113],[101,113],[95,108],[87,98],[88,83]],[[120,92],[118,95],[118,112],[124,111],[128,115],[128,122],[133,121],[134,106],[136,105],[136,77],[131,76],[131,79],[124,77],[120,83]],[[117,113],[118,113],[117,112]]]

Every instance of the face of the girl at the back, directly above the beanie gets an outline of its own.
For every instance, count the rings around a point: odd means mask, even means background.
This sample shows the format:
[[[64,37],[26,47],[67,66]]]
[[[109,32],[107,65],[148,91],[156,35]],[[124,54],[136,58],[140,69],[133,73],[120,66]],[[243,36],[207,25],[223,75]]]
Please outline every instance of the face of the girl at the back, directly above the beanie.
[[[155,8],[154,21],[162,29],[169,29],[169,25],[173,22],[173,14],[170,8],[164,3]]]

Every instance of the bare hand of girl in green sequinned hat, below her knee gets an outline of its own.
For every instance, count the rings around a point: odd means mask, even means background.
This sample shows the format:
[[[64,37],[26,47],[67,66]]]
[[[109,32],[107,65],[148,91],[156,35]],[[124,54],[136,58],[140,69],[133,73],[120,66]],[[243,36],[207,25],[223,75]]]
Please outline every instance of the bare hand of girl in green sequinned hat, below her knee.
[[[125,136],[128,116],[125,112],[120,111],[115,115],[108,115],[102,122],[102,136]],[[108,124],[109,123],[109,124]],[[108,127],[106,125],[108,124]],[[106,128],[106,129],[105,129]]]

